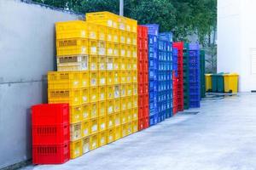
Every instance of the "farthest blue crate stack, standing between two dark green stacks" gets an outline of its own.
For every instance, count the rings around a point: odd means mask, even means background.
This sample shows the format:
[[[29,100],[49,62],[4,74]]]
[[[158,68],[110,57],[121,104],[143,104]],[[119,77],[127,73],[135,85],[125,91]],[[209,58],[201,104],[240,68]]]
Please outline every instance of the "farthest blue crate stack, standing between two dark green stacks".
[[[200,46],[198,43],[189,44],[189,108],[200,107]]]

